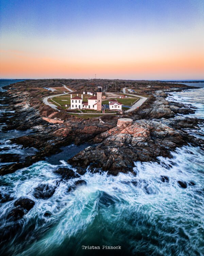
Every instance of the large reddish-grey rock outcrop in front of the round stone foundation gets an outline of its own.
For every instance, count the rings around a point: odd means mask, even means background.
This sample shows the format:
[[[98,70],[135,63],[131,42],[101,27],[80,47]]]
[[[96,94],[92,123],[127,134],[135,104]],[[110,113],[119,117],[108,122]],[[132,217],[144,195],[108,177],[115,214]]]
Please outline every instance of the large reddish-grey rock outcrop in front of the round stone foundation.
[[[185,144],[181,134],[157,121],[137,120],[96,136],[96,147],[88,147],[68,160],[80,168],[101,168],[108,174],[133,172],[134,161],[155,161],[160,155]]]

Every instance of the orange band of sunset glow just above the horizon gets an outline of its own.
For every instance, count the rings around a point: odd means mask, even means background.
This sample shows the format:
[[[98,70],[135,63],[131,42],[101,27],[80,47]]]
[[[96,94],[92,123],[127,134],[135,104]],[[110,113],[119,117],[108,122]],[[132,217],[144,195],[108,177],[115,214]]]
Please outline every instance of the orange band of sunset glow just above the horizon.
[[[47,57],[27,56],[18,51],[1,51],[0,76],[14,78],[87,78],[97,73],[98,78],[173,79],[187,74],[202,77],[204,58],[193,56],[164,56],[151,60],[123,62],[61,60]],[[160,74],[160,77],[155,77]],[[151,78],[152,77],[152,78]]]

